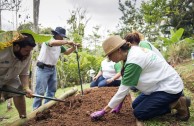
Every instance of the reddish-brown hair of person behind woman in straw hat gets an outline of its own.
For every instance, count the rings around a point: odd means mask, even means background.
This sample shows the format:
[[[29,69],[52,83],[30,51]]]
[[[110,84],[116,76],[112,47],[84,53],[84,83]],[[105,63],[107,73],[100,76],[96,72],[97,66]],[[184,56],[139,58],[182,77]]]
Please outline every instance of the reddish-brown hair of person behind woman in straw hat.
[[[140,34],[139,32],[132,32],[132,33],[128,33],[126,36],[125,36],[125,40],[127,42],[130,42],[131,44],[139,44],[139,42],[143,39],[143,35]]]

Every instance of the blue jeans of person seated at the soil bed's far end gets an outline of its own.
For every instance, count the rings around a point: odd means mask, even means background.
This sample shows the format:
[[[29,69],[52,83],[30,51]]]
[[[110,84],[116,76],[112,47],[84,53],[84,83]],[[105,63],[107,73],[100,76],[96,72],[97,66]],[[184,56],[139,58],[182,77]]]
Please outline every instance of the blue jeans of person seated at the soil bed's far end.
[[[108,78],[107,78],[108,79]],[[119,86],[121,81],[120,80],[115,80],[113,82],[111,82],[110,84],[106,83],[106,80],[103,76],[98,77],[98,79],[96,81],[92,81],[92,83],[90,84],[90,87],[108,87],[108,86]]]

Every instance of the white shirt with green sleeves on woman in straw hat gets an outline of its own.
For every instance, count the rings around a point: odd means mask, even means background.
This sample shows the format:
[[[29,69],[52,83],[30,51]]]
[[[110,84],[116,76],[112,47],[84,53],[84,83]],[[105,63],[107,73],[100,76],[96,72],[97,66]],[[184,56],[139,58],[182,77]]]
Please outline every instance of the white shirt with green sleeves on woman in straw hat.
[[[138,46],[129,50],[121,85],[109,107],[116,107],[129,93],[130,86],[136,86],[147,95],[157,91],[177,94],[184,87],[179,74],[163,58]]]

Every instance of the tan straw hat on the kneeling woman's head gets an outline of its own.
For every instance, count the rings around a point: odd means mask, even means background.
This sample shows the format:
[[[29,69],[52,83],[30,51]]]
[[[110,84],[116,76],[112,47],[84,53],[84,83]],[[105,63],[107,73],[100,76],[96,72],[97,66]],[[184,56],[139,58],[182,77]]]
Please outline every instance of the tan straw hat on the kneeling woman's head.
[[[111,54],[125,43],[126,41],[124,41],[120,36],[110,36],[102,43],[105,56]]]

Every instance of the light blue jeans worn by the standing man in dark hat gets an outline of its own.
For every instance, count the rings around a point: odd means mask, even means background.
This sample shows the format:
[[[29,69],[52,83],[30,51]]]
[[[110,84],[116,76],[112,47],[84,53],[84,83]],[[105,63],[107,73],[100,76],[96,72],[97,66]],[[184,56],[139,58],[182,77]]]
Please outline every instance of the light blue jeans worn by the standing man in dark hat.
[[[46,97],[54,97],[56,90],[57,90],[56,68],[55,67],[49,68],[45,66],[42,69],[37,67],[35,94],[43,96],[45,95]],[[50,100],[45,99],[44,104],[49,101]],[[33,110],[37,109],[41,105],[42,99],[35,97],[33,103]]]

